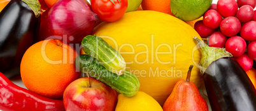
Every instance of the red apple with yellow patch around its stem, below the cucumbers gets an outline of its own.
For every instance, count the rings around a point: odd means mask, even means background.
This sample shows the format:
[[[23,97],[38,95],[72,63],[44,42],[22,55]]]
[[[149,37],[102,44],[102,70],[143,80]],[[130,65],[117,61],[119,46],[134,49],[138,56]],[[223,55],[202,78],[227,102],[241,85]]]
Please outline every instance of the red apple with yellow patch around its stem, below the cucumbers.
[[[76,79],[65,89],[63,95],[68,110],[115,110],[117,93],[103,82],[87,77]]]

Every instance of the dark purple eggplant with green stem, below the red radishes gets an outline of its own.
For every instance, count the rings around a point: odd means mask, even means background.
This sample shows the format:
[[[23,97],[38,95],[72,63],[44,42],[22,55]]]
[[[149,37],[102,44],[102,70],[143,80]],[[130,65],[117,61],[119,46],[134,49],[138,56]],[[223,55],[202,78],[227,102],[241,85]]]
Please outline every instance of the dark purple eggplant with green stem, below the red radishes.
[[[255,88],[231,53],[211,48],[194,37],[201,53],[201,74],[212,110],[256,110]]]

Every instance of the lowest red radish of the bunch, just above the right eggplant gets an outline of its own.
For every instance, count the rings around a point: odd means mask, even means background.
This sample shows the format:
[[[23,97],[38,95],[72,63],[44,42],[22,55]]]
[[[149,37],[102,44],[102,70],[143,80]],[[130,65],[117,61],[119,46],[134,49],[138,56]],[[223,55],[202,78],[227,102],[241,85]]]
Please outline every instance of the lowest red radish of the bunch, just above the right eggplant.
[[[239,63],[239,65],[241,65],[243,70],[247,71],[252,69],[253,60],[246,53],[241,56],[235,57],[234,59]]]

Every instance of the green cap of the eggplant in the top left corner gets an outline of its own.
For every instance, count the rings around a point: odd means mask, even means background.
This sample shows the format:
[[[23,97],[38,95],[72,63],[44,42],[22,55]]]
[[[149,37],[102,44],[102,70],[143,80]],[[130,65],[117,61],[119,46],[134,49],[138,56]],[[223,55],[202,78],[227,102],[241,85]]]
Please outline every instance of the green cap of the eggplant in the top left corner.
[[[22,0],[24,3],[29,5],[31,10],[34,12],[36,18],[38,18],[41,14],[41,5],[38,0]]]

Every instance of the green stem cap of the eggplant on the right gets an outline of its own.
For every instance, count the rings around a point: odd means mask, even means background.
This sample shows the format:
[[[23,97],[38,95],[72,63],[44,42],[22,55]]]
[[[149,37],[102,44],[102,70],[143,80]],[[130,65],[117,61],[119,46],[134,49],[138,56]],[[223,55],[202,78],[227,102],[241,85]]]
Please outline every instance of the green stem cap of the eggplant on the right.
[[[202,58],[200,61],[200,72],[204,74],[206,68],[219,58],[232,57],[232,54],[225,50],[225,48],[214,48],[205,44],[203,41],[197,37],[193,37],[194,41],[197,42],[197,45],[200,48]]]

